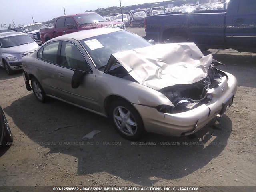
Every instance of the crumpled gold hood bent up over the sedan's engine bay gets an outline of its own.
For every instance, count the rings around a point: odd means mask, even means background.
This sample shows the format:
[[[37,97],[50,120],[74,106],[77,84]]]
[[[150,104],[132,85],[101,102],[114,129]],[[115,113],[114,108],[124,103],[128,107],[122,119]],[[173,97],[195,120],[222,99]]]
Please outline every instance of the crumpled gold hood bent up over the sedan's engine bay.
[[[136,81],[155,90],[198,82],[212,63],[212,55],[204,56],[194,43],[157,44],[112,55]]]

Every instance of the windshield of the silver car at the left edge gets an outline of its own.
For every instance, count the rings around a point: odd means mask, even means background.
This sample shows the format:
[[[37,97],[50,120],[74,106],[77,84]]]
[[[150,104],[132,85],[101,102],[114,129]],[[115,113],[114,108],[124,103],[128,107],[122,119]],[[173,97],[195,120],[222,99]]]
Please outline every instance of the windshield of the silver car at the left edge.
[[[34,43],[34,40],[28,35],[16,35],[0,39],[1,48],[15,47],[29,43]]]

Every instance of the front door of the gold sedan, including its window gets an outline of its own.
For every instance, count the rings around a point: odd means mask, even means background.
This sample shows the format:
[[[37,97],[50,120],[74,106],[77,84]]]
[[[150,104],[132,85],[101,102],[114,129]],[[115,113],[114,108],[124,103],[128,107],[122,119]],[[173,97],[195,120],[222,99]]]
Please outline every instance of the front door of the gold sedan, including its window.
[[[74,71],[87,72],[78,88],[72,88],[72,77]],[[63,41],[60,50],[60,63],[57,70],[58,88],[65,97],[65,100],[79,106],[95,111],[100,111],[98,105],[98,91],[95,85],[96,71],[92,70],[84,55],[72,42]]]

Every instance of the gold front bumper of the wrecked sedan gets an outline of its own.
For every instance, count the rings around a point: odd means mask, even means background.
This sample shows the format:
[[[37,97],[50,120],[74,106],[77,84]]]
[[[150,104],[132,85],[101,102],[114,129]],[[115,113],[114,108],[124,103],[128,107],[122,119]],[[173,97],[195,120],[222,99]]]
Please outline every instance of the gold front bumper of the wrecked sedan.
[[[228,80],[225,77],[217,88],[208,90],[213,96],[212,100],[190,111],[167,114],[158,112],[156,108],[134,104],[142,117],[145,130],[168,136],[190,135],[203,128],[218,114],[222,115],[223,108],[225,110],[228,108],[224,105],[227,103],[227,98],[228,101],[232,101],[237,90],[236,78],[226,74]]]

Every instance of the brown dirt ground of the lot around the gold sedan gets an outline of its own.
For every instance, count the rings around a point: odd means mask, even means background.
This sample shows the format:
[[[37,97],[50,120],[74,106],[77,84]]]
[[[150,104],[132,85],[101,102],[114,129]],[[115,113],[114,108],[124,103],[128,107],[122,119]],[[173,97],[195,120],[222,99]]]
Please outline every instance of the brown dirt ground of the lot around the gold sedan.
[[[256,54],[211,51],[238,79],[234,106],[195,137],[140,140],[156,145],[134,145],[108,119],[69,104],[41,104],[22,73],[0,69],[0,105],[14,135],[1,148],[0,186],[256,186]],[[101,132],[83,142],[92,130]]]

